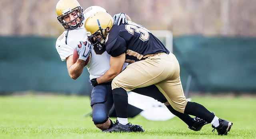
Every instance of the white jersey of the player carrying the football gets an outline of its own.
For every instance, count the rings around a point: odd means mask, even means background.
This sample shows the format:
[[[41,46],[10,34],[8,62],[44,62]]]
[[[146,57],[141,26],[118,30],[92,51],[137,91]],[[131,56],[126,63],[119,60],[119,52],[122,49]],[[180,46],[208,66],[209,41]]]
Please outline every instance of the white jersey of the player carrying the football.
[[[88,9],[92,9],[94,6],[89,7],[85,10],[85,12],[88,12]],[[76,46],[80,41],[88,41],[88,38],[86,36],[86,29],[84,27],[86,19],[83,20],[80,27],[69,30],[68,31],[68,37],[66,40],[66,33],[67,31],[64,31],[60,37],[58,37],[56,41],[56,49],[60,55],[60,59],[62,61],[65,61],[67,57],[70,55],[73,55],[74,49],[76,49]],[[67,42],[67,44],[66,44]],[[110,55],[106,51],[100,52],[101,54],[96,54],[96,51],[94,48],[92,48],[92,57],[90,60],[90,63],[86,65],[89,73],[90,73],[90,80],[93,78],[98,78],[102,76],[109,68],[110,68]],[[128,64],[124,64],[123,69]]]

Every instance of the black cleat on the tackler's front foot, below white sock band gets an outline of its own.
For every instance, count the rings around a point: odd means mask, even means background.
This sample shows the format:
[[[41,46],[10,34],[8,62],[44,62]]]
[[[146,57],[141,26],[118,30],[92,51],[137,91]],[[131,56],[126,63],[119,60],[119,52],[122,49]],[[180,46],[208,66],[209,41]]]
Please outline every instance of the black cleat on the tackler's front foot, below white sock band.
[[[108,132],[108,133],[112,133],[112,132],[130,132],[130,126],[132,124],[131,123],[127,123],[126,125],[122,125],[121,123],[118,122],[118,120],[116,120],[116,122],[114,122],[114,126],[111,127],[110,129],[104,130],[102,132]]]

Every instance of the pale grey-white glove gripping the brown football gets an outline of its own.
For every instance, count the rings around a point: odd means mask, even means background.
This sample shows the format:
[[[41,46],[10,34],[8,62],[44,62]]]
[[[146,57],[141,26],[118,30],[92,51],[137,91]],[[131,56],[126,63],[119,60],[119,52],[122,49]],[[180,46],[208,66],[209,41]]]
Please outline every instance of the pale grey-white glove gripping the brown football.
[[[83,41],[80,41],[81,48],[79,48],[79,45],[76,47],[76,51],[78,52],[79,59],[82,59],[86,61],[86,59],[89,57],[89,54],[92,50],[92,45],[85,41],[85,45]]]

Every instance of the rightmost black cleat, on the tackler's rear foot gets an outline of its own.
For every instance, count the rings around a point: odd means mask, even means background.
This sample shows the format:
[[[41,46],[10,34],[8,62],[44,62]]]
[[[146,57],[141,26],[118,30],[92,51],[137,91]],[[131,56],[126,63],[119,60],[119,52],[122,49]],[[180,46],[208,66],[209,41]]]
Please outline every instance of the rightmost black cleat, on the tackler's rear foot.
[[[218,127],[212,127],[214,128],[212,131],[215,131],[215,129],[218,132],[218,135],[228,135],[228,131],[230,131],[233,123],[226,121],[224,119],[219,119],[220,125]]]

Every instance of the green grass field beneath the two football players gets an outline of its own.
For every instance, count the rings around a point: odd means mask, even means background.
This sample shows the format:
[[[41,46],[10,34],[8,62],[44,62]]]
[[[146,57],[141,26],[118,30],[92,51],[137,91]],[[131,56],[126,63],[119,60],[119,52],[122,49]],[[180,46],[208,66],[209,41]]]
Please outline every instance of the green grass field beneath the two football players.
[[[88,97],[81,96],[0,96],[0,139],[5,138],[86,138],[86,139],[170,139],[170,138],[256,138],[255,97],[194,97],[216,116],[234,124],[227,136],[212,132],[210,124],[192,131],[177,117],[168,121],[130,118],[142,125],[144,133],[102,133],[91,117]],[[115,120],[115,118],[112,118]]]

